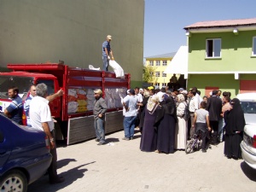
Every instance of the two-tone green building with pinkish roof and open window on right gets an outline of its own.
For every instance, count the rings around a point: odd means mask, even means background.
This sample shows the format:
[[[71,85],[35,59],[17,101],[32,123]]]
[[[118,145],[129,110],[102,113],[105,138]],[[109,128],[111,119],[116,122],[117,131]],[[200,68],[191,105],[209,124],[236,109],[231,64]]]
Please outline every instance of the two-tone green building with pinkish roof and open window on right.
[[[185,26],[188,88],[256,92],[256,18],[203,21]]]

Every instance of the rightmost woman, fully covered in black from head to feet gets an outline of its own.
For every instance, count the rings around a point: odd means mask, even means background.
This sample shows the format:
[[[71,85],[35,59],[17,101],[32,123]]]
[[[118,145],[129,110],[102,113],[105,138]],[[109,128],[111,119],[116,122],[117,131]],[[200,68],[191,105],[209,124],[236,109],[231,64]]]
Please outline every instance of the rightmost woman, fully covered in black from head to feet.
[[[239,99],[231,100],[232,108],[224,113],[225,143],[224,154],[227,158],[241,159],[240,143],[245,126],[244,114]]]

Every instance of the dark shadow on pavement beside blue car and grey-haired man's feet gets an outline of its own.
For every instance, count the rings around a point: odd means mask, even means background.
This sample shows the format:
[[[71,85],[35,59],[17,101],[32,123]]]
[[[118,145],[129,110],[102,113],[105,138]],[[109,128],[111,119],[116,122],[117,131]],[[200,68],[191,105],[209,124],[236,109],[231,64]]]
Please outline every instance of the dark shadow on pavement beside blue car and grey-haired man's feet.
[[[72,160],[72,159],[71,159]],[[65,161],[63,161],[65,162]],[[67,164],[70,161],[67,160]],[[71,170],[68,170],[67,172],[61,172],[60,176],[65,177],[65,182],[63,183],[57,183],[57,184],[49,184],[49,178],[48,175],[45,175],[44,177],[41,177],[38,181],[32,183],[28,186],[27,192],[55,192],[59,189],[66,188],[67,186],[71,185],[73,182],[75,182],[77,179],[84,177],[84,172],[87,172],[88,169],[80,169],[83,166],[90,165],[92,163],[95,163],[96,161],[92,161],[90,163],[76,166]],[[59,161],[58,161],[59,163]],[[64,165],[64,163],[63,163]]]

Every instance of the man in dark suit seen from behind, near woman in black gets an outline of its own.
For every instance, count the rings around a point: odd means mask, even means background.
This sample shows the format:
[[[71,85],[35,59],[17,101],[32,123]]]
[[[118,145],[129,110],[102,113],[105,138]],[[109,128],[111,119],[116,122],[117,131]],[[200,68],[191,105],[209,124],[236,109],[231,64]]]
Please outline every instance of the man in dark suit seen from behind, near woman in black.
[[[220,119],[222,102],[217,96],[218,90],[212,90],[212,96],[207,102],[207,111],[209,112],[210,125],[213,130],[212,144],[218,143],[218,120]]]

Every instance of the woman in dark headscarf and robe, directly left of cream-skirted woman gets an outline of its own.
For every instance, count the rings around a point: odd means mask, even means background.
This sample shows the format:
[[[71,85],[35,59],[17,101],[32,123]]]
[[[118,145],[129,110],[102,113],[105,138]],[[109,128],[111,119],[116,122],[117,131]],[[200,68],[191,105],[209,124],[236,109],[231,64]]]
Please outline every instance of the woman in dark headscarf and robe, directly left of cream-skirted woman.
[[[155,119],[157,127],[157,150],[156,153],[174,153],[175,145],[175,123],[177,120],[176,105],[171,96],[158,110]]]

